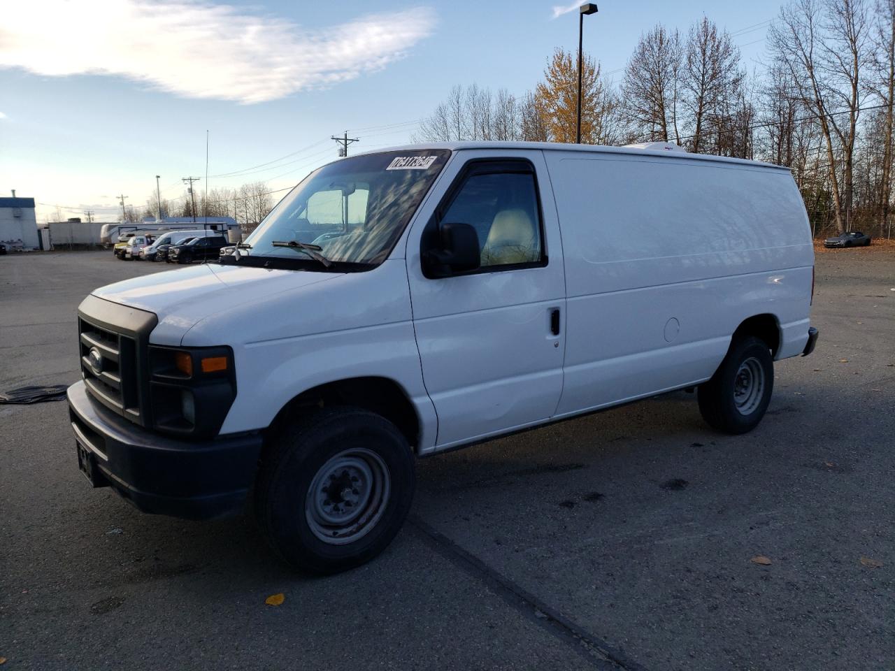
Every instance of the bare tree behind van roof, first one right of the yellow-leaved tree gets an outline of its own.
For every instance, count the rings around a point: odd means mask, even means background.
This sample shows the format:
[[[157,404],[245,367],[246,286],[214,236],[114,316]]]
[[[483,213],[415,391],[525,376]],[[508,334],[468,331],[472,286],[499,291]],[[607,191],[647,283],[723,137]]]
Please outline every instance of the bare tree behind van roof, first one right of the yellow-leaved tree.
[[[622,81],[627,117],[644,139],[675,140],[682,66],[680,36],[657,25],[641,36]]]

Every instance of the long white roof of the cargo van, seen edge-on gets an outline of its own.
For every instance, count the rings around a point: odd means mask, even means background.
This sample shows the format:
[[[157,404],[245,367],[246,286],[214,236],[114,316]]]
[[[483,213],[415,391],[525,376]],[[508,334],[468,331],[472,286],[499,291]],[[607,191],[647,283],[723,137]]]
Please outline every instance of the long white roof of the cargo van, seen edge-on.
[[[360,152],[362,154],[380,154],[386,151],[418,150],[418,149],[450,149],[460,151],[463,149],[541,149],[543,151],[579,151],[587,154],[627,154],[631,156],[657,156],[693,161],[708,161],[716,163],[729,163],[737,166],[752,166],[772,168],[774,170],[786,170],[786,166],[776,166],[763,161],[751,161],[746,158],[729,158],[713,156],[712,154],[692,154],[681,149],[669,151],[661,147],[663,143],[649,142],[645,145],[631,145],[628,147],[608,147],[604,145],[590,144],[564,144],[561,142],[510,142],[493,140],[466,140],[462,142],[419,142],[414,144],[396,145],[371,151]],[[657,145],[660,145],[657,147]],[[655,147],[655,149],[653,149]],[[358,156],[359,154],[354,154]]]

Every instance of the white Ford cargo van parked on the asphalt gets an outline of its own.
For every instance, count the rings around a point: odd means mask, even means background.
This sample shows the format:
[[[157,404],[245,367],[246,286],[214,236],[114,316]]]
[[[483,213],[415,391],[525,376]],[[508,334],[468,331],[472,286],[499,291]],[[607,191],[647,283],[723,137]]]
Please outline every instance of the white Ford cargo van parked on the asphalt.
[[[664,148],[661,148],[664,149]],[[814,252],[786,169],[450,143],[323,166],[219,263],[79,309],[81,469],[149,513],[249,499],[320,573],[395,536],[414,459],[698,387],[753,429],[808,354]]]

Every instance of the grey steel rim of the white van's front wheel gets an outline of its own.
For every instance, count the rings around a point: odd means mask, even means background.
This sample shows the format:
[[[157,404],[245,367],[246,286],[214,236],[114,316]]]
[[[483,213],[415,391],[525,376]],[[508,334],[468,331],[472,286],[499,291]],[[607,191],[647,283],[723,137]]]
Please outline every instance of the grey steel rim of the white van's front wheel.
[[[385,513],[391,476],[379,454],[364,447],[344,450],[324,463],[311,480],[305,518],[328,545],[366,536]]]

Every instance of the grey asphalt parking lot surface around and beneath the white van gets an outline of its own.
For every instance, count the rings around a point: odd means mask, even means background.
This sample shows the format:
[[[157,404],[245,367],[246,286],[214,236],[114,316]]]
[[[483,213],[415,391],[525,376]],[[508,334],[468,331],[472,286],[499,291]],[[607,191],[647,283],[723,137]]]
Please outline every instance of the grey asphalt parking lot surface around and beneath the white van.
[[[850,252],[751,434],[681,392],[423,460],[404,531],[336,577],[90,489],[65,403],[0,405],[4,671],[895,669],[895,254]],[[168,268],[0,258],[0,390],[76,381],[81,299]]]

